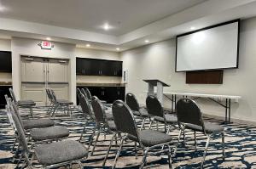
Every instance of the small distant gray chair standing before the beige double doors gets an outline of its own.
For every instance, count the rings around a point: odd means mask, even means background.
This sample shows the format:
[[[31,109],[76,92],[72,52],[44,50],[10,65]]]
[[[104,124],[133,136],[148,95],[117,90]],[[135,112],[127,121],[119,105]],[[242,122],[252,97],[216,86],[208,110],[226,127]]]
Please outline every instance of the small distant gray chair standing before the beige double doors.
[[[46,88],[46,93],[50,102],[48,112],[51,116],[55,116],[58,110],[63,110],[64,113],[66,113],[67,110],[67,115],[72,113],[70,106],[73,105],[73,102],[66,99],[57,99],[52,89]]]

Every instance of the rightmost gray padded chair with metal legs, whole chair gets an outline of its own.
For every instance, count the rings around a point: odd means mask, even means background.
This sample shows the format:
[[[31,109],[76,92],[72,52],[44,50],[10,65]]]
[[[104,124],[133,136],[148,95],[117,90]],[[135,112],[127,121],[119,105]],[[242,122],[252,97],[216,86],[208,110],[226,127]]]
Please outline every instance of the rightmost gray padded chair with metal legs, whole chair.
[[[176,105],[177,110],[177,121],[180,127],[178,142],[180,140],[181,133],[185,133],[185,129],[190,129],[194,131],[195,137],[195,149],[196,149],[196,132],[202,132],[207,136],[207,144],[205,147],[203,159],[201,161],[201,168],[204,165],[207,148],[210,139],[213,135],[221,135],[222,138],[222,149],[223,149],[223,160],[224,160],[224,127],[210,122],[204,122],[201,115],[201,110],[199,106],[191,99],[179,99]],[[215,137],[214,137],[215,138]]]

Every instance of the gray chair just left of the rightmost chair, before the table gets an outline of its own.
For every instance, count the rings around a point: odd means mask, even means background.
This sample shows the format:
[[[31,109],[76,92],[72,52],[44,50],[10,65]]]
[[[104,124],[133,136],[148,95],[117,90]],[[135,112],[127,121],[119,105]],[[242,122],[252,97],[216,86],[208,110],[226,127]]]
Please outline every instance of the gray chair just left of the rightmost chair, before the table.
[[[177,116],[165,114],[160,101],[153,95],[149,95],[146,99],[146,105],[148,110],[148,115],[150,116],[151,122],[150,127],[153,121],[156,121],[157,127],[158,122],[165,124],[165,132],[170,132],[171,127],[175,127],[177,125]],[[166,129],[168,126],[168,129]]]

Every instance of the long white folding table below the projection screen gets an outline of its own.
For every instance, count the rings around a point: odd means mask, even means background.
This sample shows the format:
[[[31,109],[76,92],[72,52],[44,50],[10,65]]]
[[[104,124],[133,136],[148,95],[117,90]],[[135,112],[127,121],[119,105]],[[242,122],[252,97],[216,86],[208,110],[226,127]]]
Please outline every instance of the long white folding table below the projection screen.
[[[172,98],[169,96],[171,95]],[[241,96],[234,95],[218,95],[218,94],[207,94],[207,93],[172,93],[172,92],[164,92],[164,96],[167,99],[172,101],[172,111],[175,110],[177,96],[182,96],[183,98],[187,98],[188,96],[195,97],[193,100],[198,98],[207,98],[212,100],[213,102],[223,106],[225,108],[225,123],[230,123],[230,114],[231,114],[231,99],[235,99],[238,102],[238,99],[241,99]],[[225,99],[225,104],[218,102],[215,99]]]

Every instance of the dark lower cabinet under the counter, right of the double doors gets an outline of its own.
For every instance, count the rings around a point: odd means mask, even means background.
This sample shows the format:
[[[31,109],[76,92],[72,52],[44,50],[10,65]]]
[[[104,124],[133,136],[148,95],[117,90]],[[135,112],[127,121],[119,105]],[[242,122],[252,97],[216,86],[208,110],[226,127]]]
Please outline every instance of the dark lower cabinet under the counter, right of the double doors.
[[[84,88],[84,87],[77,87]],[[108,104],[113,104],[117,99],[125,100],[125,87],[87,87],[92,96],[98,99],[107,101]],[[77,98],[77,104],[79,99]]]

